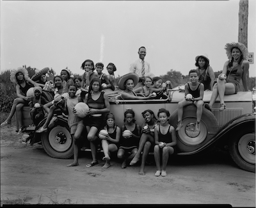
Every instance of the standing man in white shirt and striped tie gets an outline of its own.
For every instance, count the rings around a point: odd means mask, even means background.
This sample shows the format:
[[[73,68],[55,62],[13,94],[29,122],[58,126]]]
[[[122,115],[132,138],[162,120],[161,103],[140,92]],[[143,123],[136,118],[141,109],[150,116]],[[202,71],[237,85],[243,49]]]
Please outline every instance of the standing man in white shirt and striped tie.
[[[138,51],[138,54],[139,54],[139,59],[134,61],[134,63],[131,64],[130,73],[136,73],[140,78],[149,76],[151,74],[150,65],[148,62],[144,60],[147,54],[146,48],[144,46],[141,46]]]

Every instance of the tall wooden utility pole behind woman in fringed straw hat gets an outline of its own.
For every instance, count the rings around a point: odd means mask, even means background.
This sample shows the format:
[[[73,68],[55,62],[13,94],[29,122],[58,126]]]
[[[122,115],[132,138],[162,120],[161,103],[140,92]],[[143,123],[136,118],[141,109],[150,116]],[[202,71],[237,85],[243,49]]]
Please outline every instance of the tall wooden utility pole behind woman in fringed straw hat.
[[[239,1],[239,13],[238,13],[238,42],[244,44],[248,48],[248,0]],[[247,81],[249,80],[249,71],[247,73]],[[239,91],[243,90],[243,84],[240,82]]]

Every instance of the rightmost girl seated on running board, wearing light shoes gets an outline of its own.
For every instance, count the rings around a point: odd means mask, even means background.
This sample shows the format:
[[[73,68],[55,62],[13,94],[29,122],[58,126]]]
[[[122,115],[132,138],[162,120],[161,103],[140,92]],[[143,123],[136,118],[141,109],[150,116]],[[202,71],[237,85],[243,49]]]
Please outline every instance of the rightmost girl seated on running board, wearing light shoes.
[[[154,131],[155,147],[154,157],[156,161],[157,171],[155,176],[166,176],[166,166],[169,156],[174,153],[174,146],[177,144],[176,132],[172,125],[168,124],[170,112],[164,108],[159,109],[157,113],[159,124],[156,125]],[[160,166],[162,155],[162,168]]]

